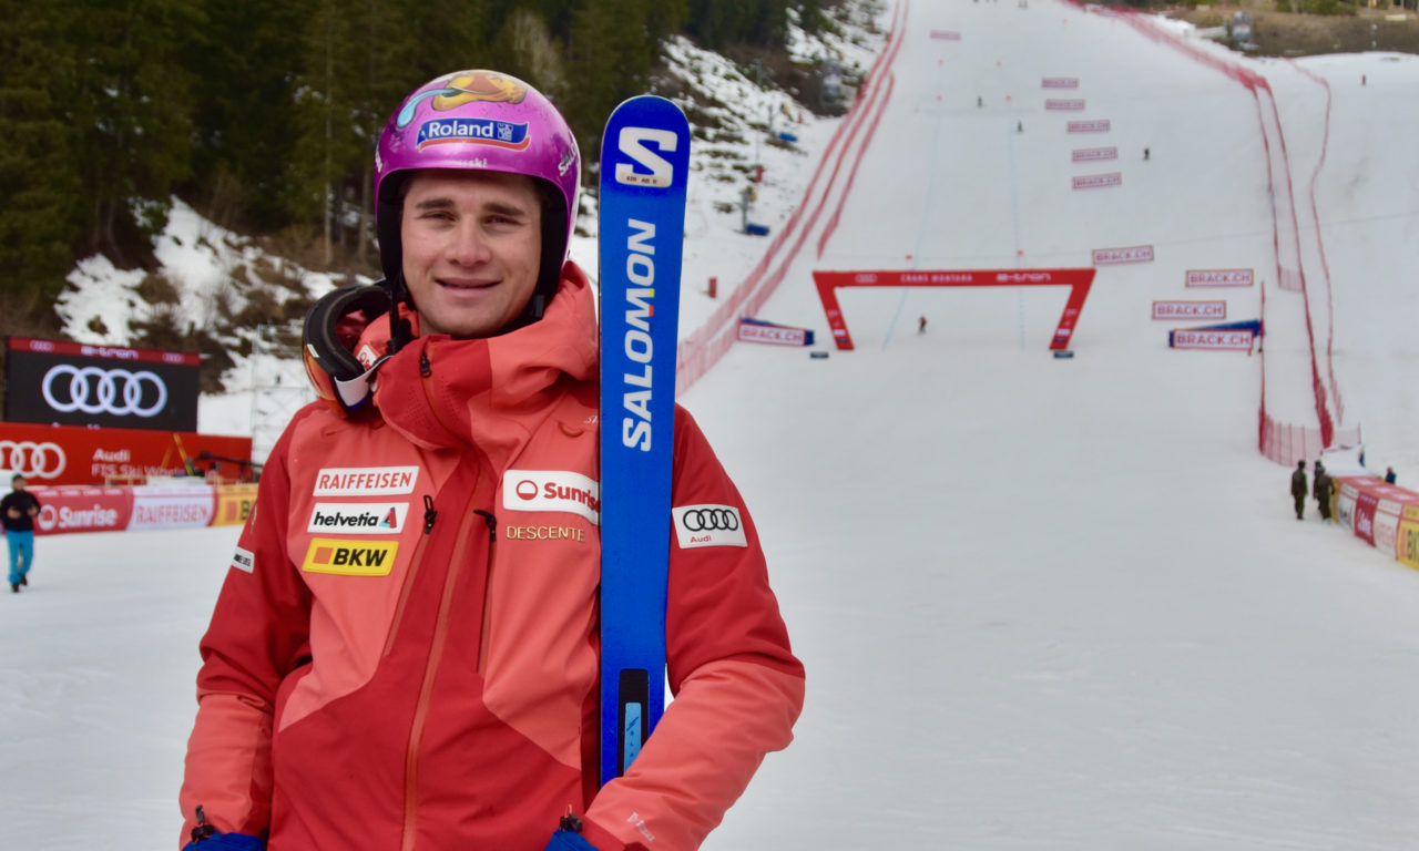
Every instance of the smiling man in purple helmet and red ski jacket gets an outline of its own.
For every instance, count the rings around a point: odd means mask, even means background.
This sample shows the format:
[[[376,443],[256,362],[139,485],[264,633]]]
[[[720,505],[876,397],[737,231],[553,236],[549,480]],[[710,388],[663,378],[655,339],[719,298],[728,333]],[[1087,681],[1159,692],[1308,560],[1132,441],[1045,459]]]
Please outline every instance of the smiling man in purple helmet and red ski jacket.
[[[677,698],[597,789],[579,176],[562,116],[499,74],[431,81],[385,128],[386,279],[307,319],[325,404],[272,450],[201,643],[180,796],[197,851],[691,850],[789,743],[803,668],[744,501],[680,410],[673,505],[738,529],[671,536]]]

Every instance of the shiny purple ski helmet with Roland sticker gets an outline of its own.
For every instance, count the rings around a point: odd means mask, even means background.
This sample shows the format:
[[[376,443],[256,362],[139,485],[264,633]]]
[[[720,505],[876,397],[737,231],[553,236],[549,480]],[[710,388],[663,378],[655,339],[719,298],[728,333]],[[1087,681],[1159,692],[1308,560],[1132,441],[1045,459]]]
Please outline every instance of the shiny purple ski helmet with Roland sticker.
[[[379,254],[396,304],[409,301],[399,243],[400,184],[419,169],[526,174],[543,194],[559,201],[543,204],[542,268],[524,315],[528,322],[539,319],[561,281],[582,184],[576,136],[556,106],[515,77],[481,69],[437,77],[399,105],[379,135],[375,152]]]

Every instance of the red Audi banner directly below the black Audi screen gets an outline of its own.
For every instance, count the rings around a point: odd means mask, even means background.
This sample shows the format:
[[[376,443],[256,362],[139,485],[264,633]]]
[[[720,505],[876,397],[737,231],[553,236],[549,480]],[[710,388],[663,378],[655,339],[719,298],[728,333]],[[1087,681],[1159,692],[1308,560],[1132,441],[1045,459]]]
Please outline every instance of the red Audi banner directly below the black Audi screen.
[[[228,478],[240,478],[250,477],[250,437],[0,423],[0,468],[37,485],[204,474],[217,464]]]

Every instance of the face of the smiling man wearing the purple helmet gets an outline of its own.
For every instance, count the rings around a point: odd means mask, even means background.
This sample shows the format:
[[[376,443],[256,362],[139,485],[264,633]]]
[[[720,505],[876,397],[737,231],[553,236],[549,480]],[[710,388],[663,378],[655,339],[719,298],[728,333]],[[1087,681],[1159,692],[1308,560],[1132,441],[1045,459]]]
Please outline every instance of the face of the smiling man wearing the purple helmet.
[[[404,194],[400,238],[420,329],[455,339],[492,336],[536,288],[536,186],[501,172],[419,172]]]

